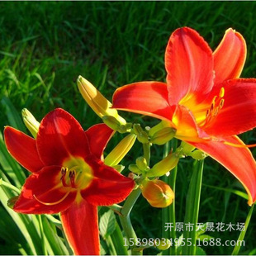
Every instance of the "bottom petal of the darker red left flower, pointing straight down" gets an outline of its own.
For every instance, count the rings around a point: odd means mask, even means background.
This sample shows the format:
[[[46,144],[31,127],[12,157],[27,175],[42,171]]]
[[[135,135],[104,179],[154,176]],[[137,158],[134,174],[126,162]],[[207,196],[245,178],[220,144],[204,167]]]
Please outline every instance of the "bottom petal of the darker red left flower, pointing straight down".
[[[61,212],[60,217],[74,254],[100,254],[97,206],[83,200],[78,204],[73,203],[69,209]]]

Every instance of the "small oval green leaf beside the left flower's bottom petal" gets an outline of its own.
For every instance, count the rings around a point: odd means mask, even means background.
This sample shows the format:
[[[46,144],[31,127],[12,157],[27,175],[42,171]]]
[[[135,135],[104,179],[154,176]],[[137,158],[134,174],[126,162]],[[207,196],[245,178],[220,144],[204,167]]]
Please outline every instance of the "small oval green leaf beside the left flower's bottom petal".
[[[116,216],[113,211],[109,210],[102,215],[99,228],[104,239],[114,232],[116,229]]]

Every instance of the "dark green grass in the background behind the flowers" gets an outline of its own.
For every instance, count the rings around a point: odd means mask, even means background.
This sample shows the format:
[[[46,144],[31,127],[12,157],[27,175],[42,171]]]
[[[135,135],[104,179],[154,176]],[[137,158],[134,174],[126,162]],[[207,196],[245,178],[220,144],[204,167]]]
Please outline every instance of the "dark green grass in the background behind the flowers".
[[[242,76],[256,77],[256,21],[252,12],[255,7],[255,2],[0,2],[0,127],[12,125],[25,130],[20,117],[24,107],[38,120],[55,107],[64,107],[84,129],[100,122],[78,92],[75,83],[78,75],[95,84],[108,99],[116,88],[126,83],[164,81],[165,46],[171,32],[180,26],[191,26],[199,31],[212,49],[227,28],[241,32],[248,45]],[[127,113],[123,116],[130,121],[136,118],[145,126],[152,123],[148,117]],[[249,132],[244,140],[253,143],[254,137],[254,131]],[[138,156],[138,150],[140,153],[138,147],[130,152],[129,161]],[[153,153],[154,161],[162,156],[159,148],[154,147]],[[0,177],[21,188],[26,171],[7,154],[2,153],[0,159]],[[181,222],[191,164],[184,159],[178,167],[176,204],[177,221]],[[216,162],[206,159],[205,165],[199,221],[244,222],[249,212],[246,201],[221,188],[243,192],[244,189]],[[15,195],[4,189],[10,197]],[[148,211],[152,214],[148,215]],[[13,212],[4,201],[0,212],[0,254],[44,253],[38,249],[42,239],[39,227],[31,224],[28,230],[22,230],[15,225]],[[32,223],[30,216],[15,218],[26,218],[26,223]],[[132,213],[138,237],[159,237],[160,218],[161,211],[149,207],[140,197]],[[48,219],[42,221],[46,223]],[[52,222],[48,224],[51,234],[62,237]],[[255,229],[253,216],[240,254],[256,253]],[[32,232],[36,237],[31,241],[24,232]],[[209,235],[231,240],[237,239],[239,232],[211,232]],[[59,248],[53,253],[68,254],[63,243],[60,239]],[[38,248],[33,249],[31,244]],[[231,247],[222,246],[204,249],[207,254],[232,252]],[[156,250],[145,251],[145,254],[150,252],[155,254]]]

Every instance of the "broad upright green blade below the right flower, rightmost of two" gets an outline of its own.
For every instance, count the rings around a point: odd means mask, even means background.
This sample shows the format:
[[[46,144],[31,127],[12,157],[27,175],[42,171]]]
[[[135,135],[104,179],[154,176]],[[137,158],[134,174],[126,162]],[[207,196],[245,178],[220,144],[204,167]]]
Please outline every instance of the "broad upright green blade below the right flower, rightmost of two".
[[[197,250],[197,221],[201,195],[201,179],[204,160],[196,160],[193,164],[192,178],[189,184],[184,221],[183,255],[195,255]]]

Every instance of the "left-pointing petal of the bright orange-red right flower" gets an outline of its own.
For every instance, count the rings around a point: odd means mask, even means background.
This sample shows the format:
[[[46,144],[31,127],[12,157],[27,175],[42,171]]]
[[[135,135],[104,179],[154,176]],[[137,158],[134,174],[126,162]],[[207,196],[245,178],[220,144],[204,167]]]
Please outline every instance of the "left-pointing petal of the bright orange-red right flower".
[[[140,82],[118,88],[113,96],[113,107],[159,119],[172,117],[166,83]]]

